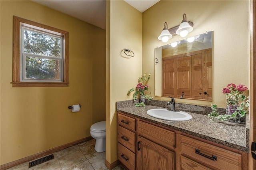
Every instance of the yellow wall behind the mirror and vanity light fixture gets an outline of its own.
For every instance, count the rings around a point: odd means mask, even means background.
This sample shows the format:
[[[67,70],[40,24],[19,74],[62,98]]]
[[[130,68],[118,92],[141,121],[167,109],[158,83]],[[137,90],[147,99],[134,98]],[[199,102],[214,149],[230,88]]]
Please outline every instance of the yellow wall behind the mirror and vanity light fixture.
[[[194,23],[187,37],[213,31],[213,90],[212,102],[176,99],[180,103],[225,106],[222,88],[229,83],[249,86],[249,1],[166,1],[161,0],[143,12],[142,69],[151,72],[154,79],[154,48],[183,40],[174,36],[167,43],[157,38],[164,22],[168,28],[180,24],[183,14]],[[148,83],[154,89],[154,81]],[[154,90],[152,90],[154,95]],[[164,97],[155,97],[168,100]]]

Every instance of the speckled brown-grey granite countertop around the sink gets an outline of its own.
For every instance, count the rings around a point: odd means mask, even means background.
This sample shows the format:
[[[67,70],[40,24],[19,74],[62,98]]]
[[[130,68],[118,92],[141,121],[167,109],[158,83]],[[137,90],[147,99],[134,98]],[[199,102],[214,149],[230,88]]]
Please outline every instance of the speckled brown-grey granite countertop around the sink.
[[[249,146],[247,146],[246,142],[245,125],[229,123],[227,121],[215,122],[211,121],[207,115],[190,112],[188,113],[192,116],[192,119],[181,122],[166,121],[147,115],[146,112],[149,109],[156,108],[162,107],[152,105],[146,105],[146,107],[128,106],[118,107],[117,111],[249,153]]]

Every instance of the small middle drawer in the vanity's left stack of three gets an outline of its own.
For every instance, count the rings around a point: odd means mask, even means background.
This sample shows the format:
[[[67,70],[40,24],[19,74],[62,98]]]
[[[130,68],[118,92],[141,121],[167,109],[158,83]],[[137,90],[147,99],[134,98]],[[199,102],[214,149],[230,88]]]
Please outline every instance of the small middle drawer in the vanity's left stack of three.
[[[118,126],[118,142],[135,153],[135,133]]]

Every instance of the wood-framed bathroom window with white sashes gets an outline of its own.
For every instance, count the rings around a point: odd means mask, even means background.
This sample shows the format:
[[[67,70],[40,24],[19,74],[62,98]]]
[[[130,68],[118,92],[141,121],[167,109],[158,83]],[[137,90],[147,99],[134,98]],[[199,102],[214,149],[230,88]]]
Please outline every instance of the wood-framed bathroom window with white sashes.
[[[68,32],[13,17],[13,87],[68,86]]]

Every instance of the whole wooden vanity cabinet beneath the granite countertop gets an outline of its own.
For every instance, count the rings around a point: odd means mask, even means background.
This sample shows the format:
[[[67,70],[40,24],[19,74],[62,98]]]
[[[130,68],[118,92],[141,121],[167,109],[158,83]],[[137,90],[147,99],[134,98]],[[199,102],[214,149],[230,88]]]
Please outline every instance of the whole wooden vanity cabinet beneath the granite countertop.
[[[248,153],[122,113],[118,160],[129,170],[248,170]]]

